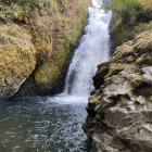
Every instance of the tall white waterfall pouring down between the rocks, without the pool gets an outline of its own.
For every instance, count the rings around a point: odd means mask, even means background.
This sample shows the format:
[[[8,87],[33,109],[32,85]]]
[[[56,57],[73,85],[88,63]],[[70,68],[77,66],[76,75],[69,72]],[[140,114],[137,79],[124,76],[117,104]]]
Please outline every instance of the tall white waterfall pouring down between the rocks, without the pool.
[[[64,93],[88,97],[93,89],[97,66],[109,60],[111,11],[101,9],[102,1],[92,0],[88,8],[88,24],[68,67]]]

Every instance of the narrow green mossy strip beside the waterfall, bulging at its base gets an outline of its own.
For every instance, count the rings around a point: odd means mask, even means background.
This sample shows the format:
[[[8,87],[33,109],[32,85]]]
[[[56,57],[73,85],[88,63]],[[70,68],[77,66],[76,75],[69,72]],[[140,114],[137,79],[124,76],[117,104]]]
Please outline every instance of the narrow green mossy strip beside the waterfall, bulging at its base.
[[[69,58],[71,49],[81,35],[83,25],[83,22],[79,23],[76,30],[69,34],[68,40],[65,40],[64,50],[61,52],[53,52],[53,58],[50,58],[47,64],[45,63],[35,73],[35,79],[41,90],[59,87],[66,62]]]

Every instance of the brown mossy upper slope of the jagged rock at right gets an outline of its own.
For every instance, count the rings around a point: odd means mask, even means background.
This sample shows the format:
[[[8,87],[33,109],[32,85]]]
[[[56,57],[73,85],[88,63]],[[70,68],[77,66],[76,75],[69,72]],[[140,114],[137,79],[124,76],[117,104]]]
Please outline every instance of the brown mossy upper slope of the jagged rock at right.
[[[141,73],[142,66],[152,65],[151,50],[152,30],[144,31],[143,34],[138,35],[134,40],[117,47],[112,59],[98,66],[98,72],[93,77],[96,89],[106,85],[113,76],[121,74],[131,66],[135,68],[130,68],[130,73],[139,74]],[[139,78],[132,78],[130,84],[138,86],[141,83]]]

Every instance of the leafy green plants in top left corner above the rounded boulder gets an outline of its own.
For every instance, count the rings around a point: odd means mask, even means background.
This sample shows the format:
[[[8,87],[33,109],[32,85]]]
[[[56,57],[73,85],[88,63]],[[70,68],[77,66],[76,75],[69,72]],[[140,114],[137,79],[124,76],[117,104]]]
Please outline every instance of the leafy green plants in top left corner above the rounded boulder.
[[[55,0],[0,0],[0,23],[26,22],[34,10],[46,8],[58,11],[58,3]]]

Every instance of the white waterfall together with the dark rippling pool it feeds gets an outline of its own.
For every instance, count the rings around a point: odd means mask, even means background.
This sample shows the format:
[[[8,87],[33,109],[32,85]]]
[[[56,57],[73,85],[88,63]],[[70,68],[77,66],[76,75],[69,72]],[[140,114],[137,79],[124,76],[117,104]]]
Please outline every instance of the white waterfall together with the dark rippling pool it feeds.
[[[99,0],[88,8],[89,18],[68,68],[64,92],[0,104],[0,152],[87,152],[81,130],[87,98],[97,65],[109,59],[111,12]]]

